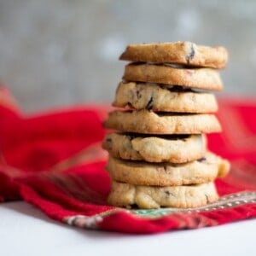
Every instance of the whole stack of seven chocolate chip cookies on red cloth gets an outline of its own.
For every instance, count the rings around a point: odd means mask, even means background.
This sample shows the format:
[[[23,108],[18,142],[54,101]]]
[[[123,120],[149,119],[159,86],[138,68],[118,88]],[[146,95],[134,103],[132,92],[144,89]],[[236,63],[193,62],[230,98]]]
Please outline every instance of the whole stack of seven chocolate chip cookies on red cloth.
[[[104,125],[102,143],[117,207],[201,207],[218,200],[214,179],[229,162],[207,150],[205,134],[221,131],[210,90],[222,90],[223,47],[190,42],[132,44],[131,61]]]

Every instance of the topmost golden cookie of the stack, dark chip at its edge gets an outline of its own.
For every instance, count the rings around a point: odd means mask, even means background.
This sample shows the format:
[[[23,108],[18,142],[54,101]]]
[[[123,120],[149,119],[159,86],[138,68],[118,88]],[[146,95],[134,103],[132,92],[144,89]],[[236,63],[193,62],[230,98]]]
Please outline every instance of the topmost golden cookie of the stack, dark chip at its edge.
[[[224,47],[208,47],[191,42],[130,44],[119,59],[224,68],[228,61],[228,51]]]

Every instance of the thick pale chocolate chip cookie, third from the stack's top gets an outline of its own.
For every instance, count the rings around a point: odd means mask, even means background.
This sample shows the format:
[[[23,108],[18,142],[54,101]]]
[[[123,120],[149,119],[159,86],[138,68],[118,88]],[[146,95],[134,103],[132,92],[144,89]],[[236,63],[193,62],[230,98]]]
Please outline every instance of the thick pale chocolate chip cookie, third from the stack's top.
[[[119,83],[113,106],[179,113],[214,113],[218,110],[216,98],[211,93],[134,82]]]

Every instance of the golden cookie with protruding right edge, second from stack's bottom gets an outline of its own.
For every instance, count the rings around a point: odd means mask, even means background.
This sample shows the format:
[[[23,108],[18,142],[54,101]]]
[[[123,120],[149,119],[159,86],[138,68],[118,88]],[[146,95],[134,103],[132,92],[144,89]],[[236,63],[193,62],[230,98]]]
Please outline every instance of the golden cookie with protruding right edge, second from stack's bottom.
[[[230,171],[230,164],[215,154],[184,164],[147,163],[109,157],[107,170],[113,180],[133,185],[180,186],[212,182]]]

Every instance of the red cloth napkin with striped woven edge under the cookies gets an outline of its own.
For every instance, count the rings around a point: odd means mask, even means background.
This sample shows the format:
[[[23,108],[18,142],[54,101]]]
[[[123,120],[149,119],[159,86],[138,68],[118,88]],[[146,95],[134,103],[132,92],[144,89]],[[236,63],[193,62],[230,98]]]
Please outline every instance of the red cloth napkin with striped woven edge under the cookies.
[[[209,148],[232,163],[220,201],[190,210],[110,207],[102,120],[110,107],[24,114],[0,87],[0,201],[23,200],[58,221],[99,230],[156,233],[256,217],[256,99],[219,101],[223,133]]]

